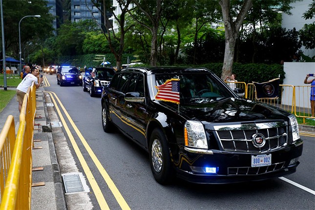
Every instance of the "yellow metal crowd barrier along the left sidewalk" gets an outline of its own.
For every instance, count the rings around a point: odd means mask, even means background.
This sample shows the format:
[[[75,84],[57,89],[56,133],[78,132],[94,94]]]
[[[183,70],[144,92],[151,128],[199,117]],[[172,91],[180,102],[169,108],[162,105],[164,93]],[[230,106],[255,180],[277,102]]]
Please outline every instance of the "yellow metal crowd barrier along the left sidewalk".
[[[33,83],[23,99],[17,136],[12,115],[8,116],[0,133],[0,210],[31,209],[35,114],[36,87]]]

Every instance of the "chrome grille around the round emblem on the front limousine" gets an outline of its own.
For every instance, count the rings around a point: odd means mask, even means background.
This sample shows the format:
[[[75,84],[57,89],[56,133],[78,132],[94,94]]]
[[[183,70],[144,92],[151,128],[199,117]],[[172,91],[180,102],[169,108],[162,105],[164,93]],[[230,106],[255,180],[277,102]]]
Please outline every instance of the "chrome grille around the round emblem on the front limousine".
[[[263,147],[255,147],[252,135],[261,133],[266,138]],[[287,126],[252,130],[217,130],[220,144],[226,151],[266,152],[287,144]]]

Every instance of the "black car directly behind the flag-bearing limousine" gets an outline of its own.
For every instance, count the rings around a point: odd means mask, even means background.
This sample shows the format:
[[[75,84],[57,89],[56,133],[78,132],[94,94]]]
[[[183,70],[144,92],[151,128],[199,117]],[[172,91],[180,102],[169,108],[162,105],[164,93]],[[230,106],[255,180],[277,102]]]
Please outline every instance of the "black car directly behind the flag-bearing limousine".
[[[83,91],[89,91],[90,96],[101,96],[103,87],[109,84],[115,74],[113,68],[95,67],[88,68],[83,77]]]

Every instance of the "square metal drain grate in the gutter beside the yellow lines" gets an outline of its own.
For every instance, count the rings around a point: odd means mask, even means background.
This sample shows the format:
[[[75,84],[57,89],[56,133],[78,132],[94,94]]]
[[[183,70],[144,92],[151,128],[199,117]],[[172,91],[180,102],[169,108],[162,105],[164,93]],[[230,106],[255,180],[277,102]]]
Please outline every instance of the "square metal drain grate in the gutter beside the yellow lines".
[[[80,173],[63,174],[63,185],[65,193],[84,192]]]

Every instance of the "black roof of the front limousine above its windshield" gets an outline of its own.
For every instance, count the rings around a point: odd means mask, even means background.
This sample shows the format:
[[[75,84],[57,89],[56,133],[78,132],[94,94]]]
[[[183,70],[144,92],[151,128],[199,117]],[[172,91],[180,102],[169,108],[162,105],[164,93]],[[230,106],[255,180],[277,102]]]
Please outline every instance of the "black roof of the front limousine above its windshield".
[[[161,66],[161,67],[129,67],[117,72],[143,72],[147,74],[169,74],[169,73],[213,73],[207,68],[182,67],[182,66]]]

